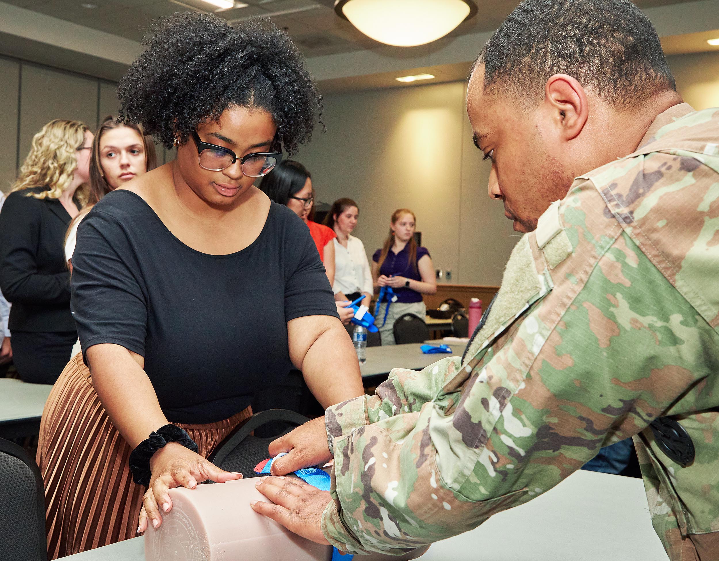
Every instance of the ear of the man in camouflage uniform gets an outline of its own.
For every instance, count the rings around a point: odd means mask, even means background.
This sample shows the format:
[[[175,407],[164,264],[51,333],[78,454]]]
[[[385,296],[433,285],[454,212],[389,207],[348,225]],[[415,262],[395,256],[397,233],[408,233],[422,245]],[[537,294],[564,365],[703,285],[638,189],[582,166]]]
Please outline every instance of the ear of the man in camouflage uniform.
[[[579,136],[589,116],[589,104],[577,80],[567,74],[550,76],[544,85],[544,103],[549,106],[565,140]]]

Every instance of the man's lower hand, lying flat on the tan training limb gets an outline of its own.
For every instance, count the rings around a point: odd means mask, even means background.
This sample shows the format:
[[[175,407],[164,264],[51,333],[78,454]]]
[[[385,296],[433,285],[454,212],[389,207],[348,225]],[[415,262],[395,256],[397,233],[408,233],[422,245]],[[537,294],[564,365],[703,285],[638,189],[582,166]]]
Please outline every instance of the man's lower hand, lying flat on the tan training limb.
[[[251,506],[255,512],[279,522],[290,532],[329,545],[321,527],[322,513],[332,500],[329,491],[320,491],[299,479],[280,477],[260,478],[256,486],[275,504],[254,501]]]

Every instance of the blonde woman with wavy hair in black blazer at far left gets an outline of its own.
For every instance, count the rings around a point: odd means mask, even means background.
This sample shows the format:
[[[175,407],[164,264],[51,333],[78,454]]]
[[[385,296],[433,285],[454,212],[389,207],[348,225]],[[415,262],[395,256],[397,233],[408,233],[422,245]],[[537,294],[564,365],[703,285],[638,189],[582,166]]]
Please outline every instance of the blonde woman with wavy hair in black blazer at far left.
[[[0,289],[12,303],[13,361],[26,382],[53,384],[77,338],[63,237],[86,198],[92,139],[79,121],[43,126],[0,213]]]

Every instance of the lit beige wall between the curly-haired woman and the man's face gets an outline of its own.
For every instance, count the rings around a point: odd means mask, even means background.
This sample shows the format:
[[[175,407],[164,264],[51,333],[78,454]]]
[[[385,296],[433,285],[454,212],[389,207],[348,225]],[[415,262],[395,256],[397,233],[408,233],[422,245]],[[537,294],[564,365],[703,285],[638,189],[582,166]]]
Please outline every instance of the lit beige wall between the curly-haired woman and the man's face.
[[[516,243],[501,206],[487,198],[489,166],[472,145],[464,83],[327,96],[326,134],[296,157],[318,198],[357,201],[355,233],[372,255],[390,215],[411,208],[434,266],[452,282],[499,284]]]

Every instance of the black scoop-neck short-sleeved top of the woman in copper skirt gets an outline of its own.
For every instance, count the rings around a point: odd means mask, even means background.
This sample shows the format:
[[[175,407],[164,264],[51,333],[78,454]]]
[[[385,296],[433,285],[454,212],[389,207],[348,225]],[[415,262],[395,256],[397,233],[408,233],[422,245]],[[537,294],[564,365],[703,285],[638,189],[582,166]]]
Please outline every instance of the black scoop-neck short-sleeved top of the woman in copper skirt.
[[[83,352],[115,343],[145,357],[168,420],[242,411],[292,364],[287,322],[337,317],[307,226],[272,203],[260,236],[210,255],[183,244],[138,195],[106,195],[81,222],[72,310]]]

